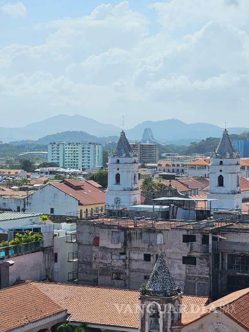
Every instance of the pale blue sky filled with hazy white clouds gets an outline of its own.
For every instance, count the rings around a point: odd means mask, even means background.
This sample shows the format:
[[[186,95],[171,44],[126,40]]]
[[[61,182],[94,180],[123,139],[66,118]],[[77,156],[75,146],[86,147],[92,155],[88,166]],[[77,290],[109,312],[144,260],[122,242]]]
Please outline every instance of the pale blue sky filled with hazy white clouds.
[[[249,127],[248,68],[249,0],[0,0],[0,127]]]

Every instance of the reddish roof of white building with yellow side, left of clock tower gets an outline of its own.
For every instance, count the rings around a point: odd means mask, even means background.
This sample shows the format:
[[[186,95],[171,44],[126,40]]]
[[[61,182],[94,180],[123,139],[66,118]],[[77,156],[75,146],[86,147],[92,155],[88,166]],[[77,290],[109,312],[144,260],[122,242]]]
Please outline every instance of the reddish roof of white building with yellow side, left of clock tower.
[[[55,188],[74,197],[81,205],[102,204],[105,203],[105,192],[96,188],[89,181],[64,180],[59,183],[48,182]]]

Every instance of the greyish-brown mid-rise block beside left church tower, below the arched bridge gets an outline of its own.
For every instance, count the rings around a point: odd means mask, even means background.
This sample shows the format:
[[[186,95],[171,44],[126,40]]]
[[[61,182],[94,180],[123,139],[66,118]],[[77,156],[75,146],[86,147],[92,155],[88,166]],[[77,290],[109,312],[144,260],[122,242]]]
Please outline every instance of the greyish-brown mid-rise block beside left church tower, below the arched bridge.
[[[138,157],[138,162],[156,163],[159,158],[158,144],[131,143],[132,150]]]

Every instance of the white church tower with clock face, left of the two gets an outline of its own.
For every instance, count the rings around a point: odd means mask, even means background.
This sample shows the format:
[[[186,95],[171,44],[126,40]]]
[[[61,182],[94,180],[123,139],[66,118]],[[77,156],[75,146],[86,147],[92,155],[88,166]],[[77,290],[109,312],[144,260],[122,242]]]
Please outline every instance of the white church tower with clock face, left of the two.
[[[122,131],[114,152],[108,158],[106,207],[121,208],[135,204],[140,204],[138,158]]]

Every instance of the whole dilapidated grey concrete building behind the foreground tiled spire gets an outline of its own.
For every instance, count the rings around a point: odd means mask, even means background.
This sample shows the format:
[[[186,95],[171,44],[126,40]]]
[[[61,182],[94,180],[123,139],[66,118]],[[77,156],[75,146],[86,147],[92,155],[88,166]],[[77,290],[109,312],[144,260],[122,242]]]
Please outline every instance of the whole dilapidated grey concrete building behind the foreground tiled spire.
[[[78,282],[138,289],[160,246],[185,294],[249,287],[249,224],[97,218],[77,222]]]

